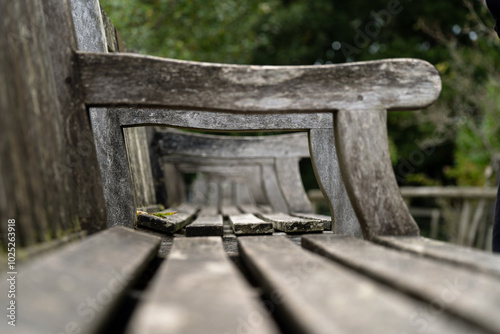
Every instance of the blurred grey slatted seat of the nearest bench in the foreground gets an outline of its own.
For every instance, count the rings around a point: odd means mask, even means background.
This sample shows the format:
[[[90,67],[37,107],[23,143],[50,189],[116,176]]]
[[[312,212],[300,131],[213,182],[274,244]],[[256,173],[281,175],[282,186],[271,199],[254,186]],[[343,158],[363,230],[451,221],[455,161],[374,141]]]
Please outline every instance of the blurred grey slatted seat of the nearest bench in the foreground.
[[[470,264],[411,250],[425,240],[391,242],[408,249],[331,232],[186,238],[114,227],[19,269],[19,330],[500,331],[497,256],[453,247],[492,269],[471,271]]]

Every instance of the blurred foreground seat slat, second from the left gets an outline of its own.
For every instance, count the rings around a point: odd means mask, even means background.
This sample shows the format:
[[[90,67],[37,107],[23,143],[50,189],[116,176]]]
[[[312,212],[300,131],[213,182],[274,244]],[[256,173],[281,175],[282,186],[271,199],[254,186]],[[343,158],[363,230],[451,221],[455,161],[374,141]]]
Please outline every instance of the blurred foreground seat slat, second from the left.
[[[127,333],[277,333],[258,305],[221,238],[176,239]]]

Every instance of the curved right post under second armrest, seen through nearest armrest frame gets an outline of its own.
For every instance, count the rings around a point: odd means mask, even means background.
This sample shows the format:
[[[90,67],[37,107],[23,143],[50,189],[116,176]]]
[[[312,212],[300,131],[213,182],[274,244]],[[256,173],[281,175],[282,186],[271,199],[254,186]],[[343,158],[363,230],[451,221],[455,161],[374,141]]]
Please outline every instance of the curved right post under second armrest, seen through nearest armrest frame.
[[[307,138],[304,136],[301,139],[307,145]],[[290,148],[290,150],[292,149]],[[302,177],[300,176],[299,159],[275,159],[274,168],[281,192],[288,206],[287,212],[312,212],[312,205],[307,197],[306,190],[302,184]]]

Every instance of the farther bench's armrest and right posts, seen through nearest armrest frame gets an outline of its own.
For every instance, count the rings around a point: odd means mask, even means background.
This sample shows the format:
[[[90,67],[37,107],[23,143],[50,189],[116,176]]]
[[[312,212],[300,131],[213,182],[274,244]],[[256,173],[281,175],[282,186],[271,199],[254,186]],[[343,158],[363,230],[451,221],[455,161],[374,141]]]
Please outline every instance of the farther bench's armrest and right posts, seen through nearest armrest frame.
[[[241,175],[258,204],[270,204],[278,212],[312,211],[299,168],[300,159],[309,158],[306,133],[235,137],[169,129],[159,131],[155,139],[164,163],[184,172]],[[252,165],[258,171],[252,172]]]

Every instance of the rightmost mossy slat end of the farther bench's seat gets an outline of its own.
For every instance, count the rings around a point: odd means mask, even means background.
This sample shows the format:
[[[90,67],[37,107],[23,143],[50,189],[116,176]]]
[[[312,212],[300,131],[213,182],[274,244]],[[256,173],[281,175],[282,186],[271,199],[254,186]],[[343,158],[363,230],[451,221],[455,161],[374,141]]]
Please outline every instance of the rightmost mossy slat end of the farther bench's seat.
[[[276,230],[287,233],[321,232],[324,228],[321,220],[292,217],[284,213],[266,213],[260,217],[273,223]]]

